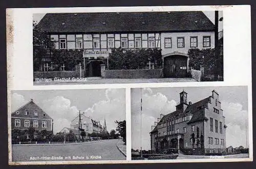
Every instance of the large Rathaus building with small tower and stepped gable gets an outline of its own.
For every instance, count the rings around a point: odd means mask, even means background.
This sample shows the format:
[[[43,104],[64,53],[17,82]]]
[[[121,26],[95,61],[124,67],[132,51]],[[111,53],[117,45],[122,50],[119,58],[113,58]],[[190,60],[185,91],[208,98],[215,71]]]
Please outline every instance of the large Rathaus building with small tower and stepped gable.
[[[175,148],[189,155],[223,153],[226,128],[217,91],[196,103],[188,102],[187,93],[182,91],[176,111],[161,114],[152,126],[151,150]]]

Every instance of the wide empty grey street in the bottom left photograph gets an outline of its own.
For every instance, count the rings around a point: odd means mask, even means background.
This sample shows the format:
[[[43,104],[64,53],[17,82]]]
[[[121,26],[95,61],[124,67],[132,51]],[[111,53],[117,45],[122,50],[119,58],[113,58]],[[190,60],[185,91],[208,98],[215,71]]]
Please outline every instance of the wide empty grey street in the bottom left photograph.
[[[125,160],[117,142],[118,139],[110,139],[65,145],[17,145],[12,146],[12,161]]]

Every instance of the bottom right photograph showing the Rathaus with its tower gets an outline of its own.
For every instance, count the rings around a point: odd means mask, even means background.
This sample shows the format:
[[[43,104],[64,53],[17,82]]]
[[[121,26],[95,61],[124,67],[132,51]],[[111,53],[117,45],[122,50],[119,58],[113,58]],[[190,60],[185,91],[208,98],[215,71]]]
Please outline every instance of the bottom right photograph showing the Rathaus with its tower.
[[[133,88],[132,160],[249,158],[249,113],[247,86]]]

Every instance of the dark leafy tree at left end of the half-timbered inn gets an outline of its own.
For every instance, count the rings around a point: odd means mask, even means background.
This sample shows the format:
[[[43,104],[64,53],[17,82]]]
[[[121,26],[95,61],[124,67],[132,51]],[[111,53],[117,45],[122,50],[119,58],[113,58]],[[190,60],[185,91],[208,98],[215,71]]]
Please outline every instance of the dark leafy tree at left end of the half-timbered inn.
[[[33,21],[33,70],[39,71],[42,58],[55,48],[50,35],[42,31],[36,21]]]

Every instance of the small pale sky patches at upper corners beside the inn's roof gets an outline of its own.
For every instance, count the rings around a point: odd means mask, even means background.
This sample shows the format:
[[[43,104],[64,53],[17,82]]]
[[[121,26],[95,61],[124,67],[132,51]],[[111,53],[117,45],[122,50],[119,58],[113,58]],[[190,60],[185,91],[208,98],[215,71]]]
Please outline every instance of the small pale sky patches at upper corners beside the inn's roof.
[[[203,11],[203,13],[215,24],[215,11]],[[45,14],[33,14],[33,20],[39,22]],[[223,16],[222,11],[219,12],[219,18]],[[223,21],[219,21],[219,31],[223,30]]]

